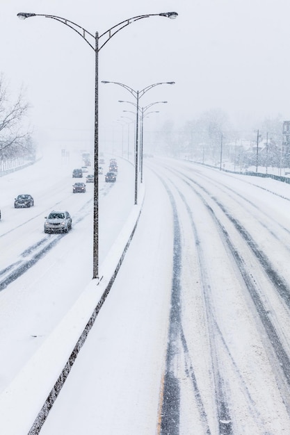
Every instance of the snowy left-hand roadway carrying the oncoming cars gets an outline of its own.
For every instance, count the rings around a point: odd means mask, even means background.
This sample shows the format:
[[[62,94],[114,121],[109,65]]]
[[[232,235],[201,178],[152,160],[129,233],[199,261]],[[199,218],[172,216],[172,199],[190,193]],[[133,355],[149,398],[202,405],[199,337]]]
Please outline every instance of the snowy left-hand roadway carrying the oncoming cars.
[[[72,169],[81,163],[79,153],[71,153],[70,161],[49,154],[31,167],[0,178],[0,281],[4,283],[0,291],[0,390],[92,279],[93,186],[88,184],[84,194],[72,193],[76,180],[72,179]],[[126,161],[119,164],[117,183],[105,183],[104,176],[99,176],[101,263],[134,204],[133,166]],[[15,209],[14,198],[19,193],[33,195],[35,206]],[[53,208],[70,211],[72,231],[65,235],[44,233],[45,216]],[[20,268],[19,277],[16,274],[10,282],[5,281],[13,267]]]

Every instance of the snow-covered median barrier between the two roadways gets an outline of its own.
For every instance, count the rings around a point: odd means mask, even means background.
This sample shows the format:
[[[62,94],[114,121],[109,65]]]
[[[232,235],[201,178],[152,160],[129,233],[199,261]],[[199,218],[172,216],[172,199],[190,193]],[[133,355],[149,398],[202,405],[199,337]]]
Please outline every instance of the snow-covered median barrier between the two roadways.
[[[0,396],[0,434],[38,434],[111,289],[127,252],[143,205],[134,206],[118,239],[61,323]]]

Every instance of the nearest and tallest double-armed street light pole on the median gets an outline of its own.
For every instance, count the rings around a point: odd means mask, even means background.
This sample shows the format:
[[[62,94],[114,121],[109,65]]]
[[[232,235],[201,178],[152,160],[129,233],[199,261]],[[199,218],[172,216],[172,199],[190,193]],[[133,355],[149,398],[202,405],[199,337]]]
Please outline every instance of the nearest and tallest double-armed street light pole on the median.
[[[118,33],[122,28],[129,26],[129,24],[134,23],[143,18],[149,17],[166,17],[170,19],[174,19],[177,17],[176,12],[166,12],[159,14],[147,14],[147,15],[138,15],[136,17],[131,17],[129,19],[125,19],[124,21],[115,24],[115,26],[109,28],[107,31],[99,35],[99,32],[96,31],[95,35],[88,32],[85,28],[79,26],[69,19],[57,17],[56,15],[47,15],[47,14],[35,14],[35,13],[18,13],[17,17],[20,19],[26,19],[30,17],[45,17],[55,19],[65,26],[72,28],[78,35],[85,40],[90,48],[95,51],[95,151],[94,151],[94,168],[95,168],[95,181],[94,181],[94,233],[93,233],[93,254],[92,254],[92,278],[99,277],[99,181],[98,181],[98,170],[99,170],[99,98],[98,98],[98,85],[99,85],[99,51],[104,47],[104,45],[113,38],[113,36]]]

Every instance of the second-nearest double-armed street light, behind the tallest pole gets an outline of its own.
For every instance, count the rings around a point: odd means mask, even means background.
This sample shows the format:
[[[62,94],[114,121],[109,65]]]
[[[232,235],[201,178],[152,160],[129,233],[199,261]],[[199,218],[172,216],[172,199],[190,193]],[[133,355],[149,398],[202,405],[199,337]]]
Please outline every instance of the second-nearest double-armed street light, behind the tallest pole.
[[[138,202],[138,117],[139,117],[139,99],[141,97],[143,97],[143,95],[150,89],[154,88],[155,86],[158,85],[174,85],[175,81],[161,81],[158,83],[153,83],[152,85],[148,85],[146,86],[146,88],[142,89],[142,90],[134,90],[132,88],[130,88],[130,86],[128,85],[124,85],[124,83],[120,83],[118,81],[107,81],[107,80],[102,80],[102,83],[107,84],[107,83],[113,83],[114,85],[119,85],[122,86],[122,88],[127,89],[131,95],[133,95],[133,97],[136,99],[136,104],[134,104],[134,106],[136,107],[136,145],[135,145],[135,199],[134,199],[134,204],[136,205]],[[122,100],[120,100],[122,101]],[[130,102],[130,101],[128,101]]]

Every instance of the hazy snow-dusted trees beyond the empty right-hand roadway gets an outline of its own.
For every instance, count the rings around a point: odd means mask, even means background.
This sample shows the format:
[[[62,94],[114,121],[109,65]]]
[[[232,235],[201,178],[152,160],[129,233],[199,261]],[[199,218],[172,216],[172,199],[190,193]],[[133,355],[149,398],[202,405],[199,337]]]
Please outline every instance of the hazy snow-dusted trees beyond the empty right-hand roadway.
[[[255,165],[290,167],[290,155],[282,149],[282,127],[278,115],[261,121],[259,131],[254,125],[234,129],[227,114],[214,109],[186,122],[178,131],[173,122],[166,122],[158,142],[168,155],[214,165],[229,162],[236,170]]]

